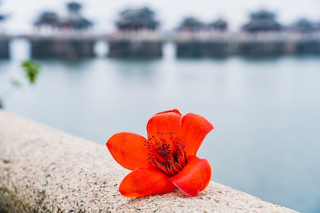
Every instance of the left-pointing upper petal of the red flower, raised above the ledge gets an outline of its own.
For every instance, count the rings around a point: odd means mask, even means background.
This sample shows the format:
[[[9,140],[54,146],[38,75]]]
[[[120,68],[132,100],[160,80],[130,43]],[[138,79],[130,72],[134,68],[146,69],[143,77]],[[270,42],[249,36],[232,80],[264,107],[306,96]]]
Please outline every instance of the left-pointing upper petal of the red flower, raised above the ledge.
[[[120,165],[126,169],[134,170],[138,167],[150,167],[149,160],[147,160],[150,151],[144,146],[146,140],[139,134],[121,132],[112,135],[106,146]]]

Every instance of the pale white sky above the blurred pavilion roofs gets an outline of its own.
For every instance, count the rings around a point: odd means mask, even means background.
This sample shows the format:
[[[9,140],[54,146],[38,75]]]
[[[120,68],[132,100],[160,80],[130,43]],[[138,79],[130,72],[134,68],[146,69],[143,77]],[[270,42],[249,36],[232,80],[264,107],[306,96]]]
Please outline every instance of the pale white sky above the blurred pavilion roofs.
[[[32,23],[42,11],[55,11],[66,15],[66,0],[0,0],[0,13],[9,14],[3,28],[9,34],[32,32]],[[289,25],[300,18],[320,22],[320,0],[79,0],[82,15],[95,23],[98,33],[115,31],[115,21],[120,11],[126,8],[147,6],[154,10],[161,22],[161,29],[170,31],[184,17],[193,16],[203,22],[223,18],[230,31],[239,31],[249,20],[249,14],[261,9],[274,12],[277,20]]]

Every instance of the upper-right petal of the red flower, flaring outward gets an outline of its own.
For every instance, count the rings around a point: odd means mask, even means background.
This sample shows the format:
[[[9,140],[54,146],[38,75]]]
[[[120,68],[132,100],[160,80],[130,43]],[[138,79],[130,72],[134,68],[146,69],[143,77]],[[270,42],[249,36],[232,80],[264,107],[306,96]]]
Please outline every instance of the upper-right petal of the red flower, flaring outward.
[[[213,125],[200,115],[188,113],[182,117],[181,134],[186,157],[196,155],[203,139],[213,129]]]

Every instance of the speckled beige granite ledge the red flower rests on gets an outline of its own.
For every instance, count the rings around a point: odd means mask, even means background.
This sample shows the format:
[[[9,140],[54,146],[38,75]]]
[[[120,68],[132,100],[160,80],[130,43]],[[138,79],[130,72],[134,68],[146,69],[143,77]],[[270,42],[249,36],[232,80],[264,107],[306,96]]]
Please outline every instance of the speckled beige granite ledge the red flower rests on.
[[[104,145],[0,110],[0,212],[296,212],[216,182],[193,198],[125,198],[128,173]]]

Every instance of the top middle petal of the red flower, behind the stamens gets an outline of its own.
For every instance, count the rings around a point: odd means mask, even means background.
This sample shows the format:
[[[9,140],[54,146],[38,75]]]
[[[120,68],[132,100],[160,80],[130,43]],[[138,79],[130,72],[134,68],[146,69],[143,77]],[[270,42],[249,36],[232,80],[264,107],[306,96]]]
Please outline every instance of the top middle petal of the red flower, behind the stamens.
[[[182,115],[177,109],[159,112],[153,115],[147,124],[148,137],[157,137],[158,133],[175,132],[178,137]]]

